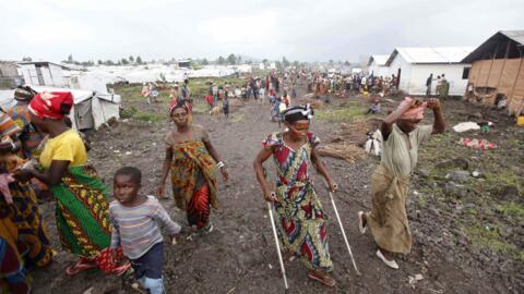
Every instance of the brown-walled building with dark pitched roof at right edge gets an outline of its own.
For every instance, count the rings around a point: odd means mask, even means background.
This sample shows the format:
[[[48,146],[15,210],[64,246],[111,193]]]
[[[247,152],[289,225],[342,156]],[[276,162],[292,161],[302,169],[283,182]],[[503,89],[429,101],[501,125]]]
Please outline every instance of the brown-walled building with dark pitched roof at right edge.
[[[510,115],[524,110],[524,30],[500,30],[463,59],[472,63],[466,99],[495,105],[505,96]]]

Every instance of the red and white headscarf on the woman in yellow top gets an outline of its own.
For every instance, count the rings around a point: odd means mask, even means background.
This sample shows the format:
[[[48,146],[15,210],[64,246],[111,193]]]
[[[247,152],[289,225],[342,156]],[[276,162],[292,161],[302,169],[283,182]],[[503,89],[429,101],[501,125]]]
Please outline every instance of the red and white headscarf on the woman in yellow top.
[[[29,111],[40,119],[61,120],[69,114],[63,110],[69,112],[72,107],[73,95],[70,91],[43,91],[31,100]]]

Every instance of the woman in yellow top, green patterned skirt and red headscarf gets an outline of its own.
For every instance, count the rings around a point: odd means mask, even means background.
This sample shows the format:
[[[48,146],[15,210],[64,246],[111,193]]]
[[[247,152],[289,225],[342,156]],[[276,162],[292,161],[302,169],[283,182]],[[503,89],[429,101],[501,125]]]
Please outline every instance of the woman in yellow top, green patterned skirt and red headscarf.
[[[25,169],[19,179],[36,177],[49,185],[57,199],[57,228],[62,247],[80,257],[68,267],[68,274],[100,268],[105,272],[123,272],[129,264],[117,268],[110,262],[109,204],[105,185],[87,166],[87,152],[76,131],[66,124],[73,106],[69,91],[41,93],[29,103],[31,121],[49,139],[39,157],[40,169]]]

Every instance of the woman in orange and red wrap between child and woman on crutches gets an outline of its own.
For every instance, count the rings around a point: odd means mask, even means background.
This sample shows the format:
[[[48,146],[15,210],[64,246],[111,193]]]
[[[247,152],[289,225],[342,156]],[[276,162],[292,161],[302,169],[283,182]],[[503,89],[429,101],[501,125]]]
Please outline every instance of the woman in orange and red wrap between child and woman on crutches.
[[[191,123],[187,105],[171,103],[169,113],[176,127],[164,139],[166,158],[157,196],[164,197],[170,170],[175,203],[186,211],[189,225],[211,232],[210,207],[218,208],[215,172],[218,169],[227,181],[226,168],[211,144],[207,131]]]

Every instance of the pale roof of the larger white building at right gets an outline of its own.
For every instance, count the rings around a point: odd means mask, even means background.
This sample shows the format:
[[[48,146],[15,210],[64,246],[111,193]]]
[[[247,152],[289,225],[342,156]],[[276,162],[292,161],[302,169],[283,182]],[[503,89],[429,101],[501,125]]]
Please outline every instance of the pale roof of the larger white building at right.
[[[460,63],[475,47],[404,47],[396,48],[388,59],[390,65],[398,53],[408,63]]]

